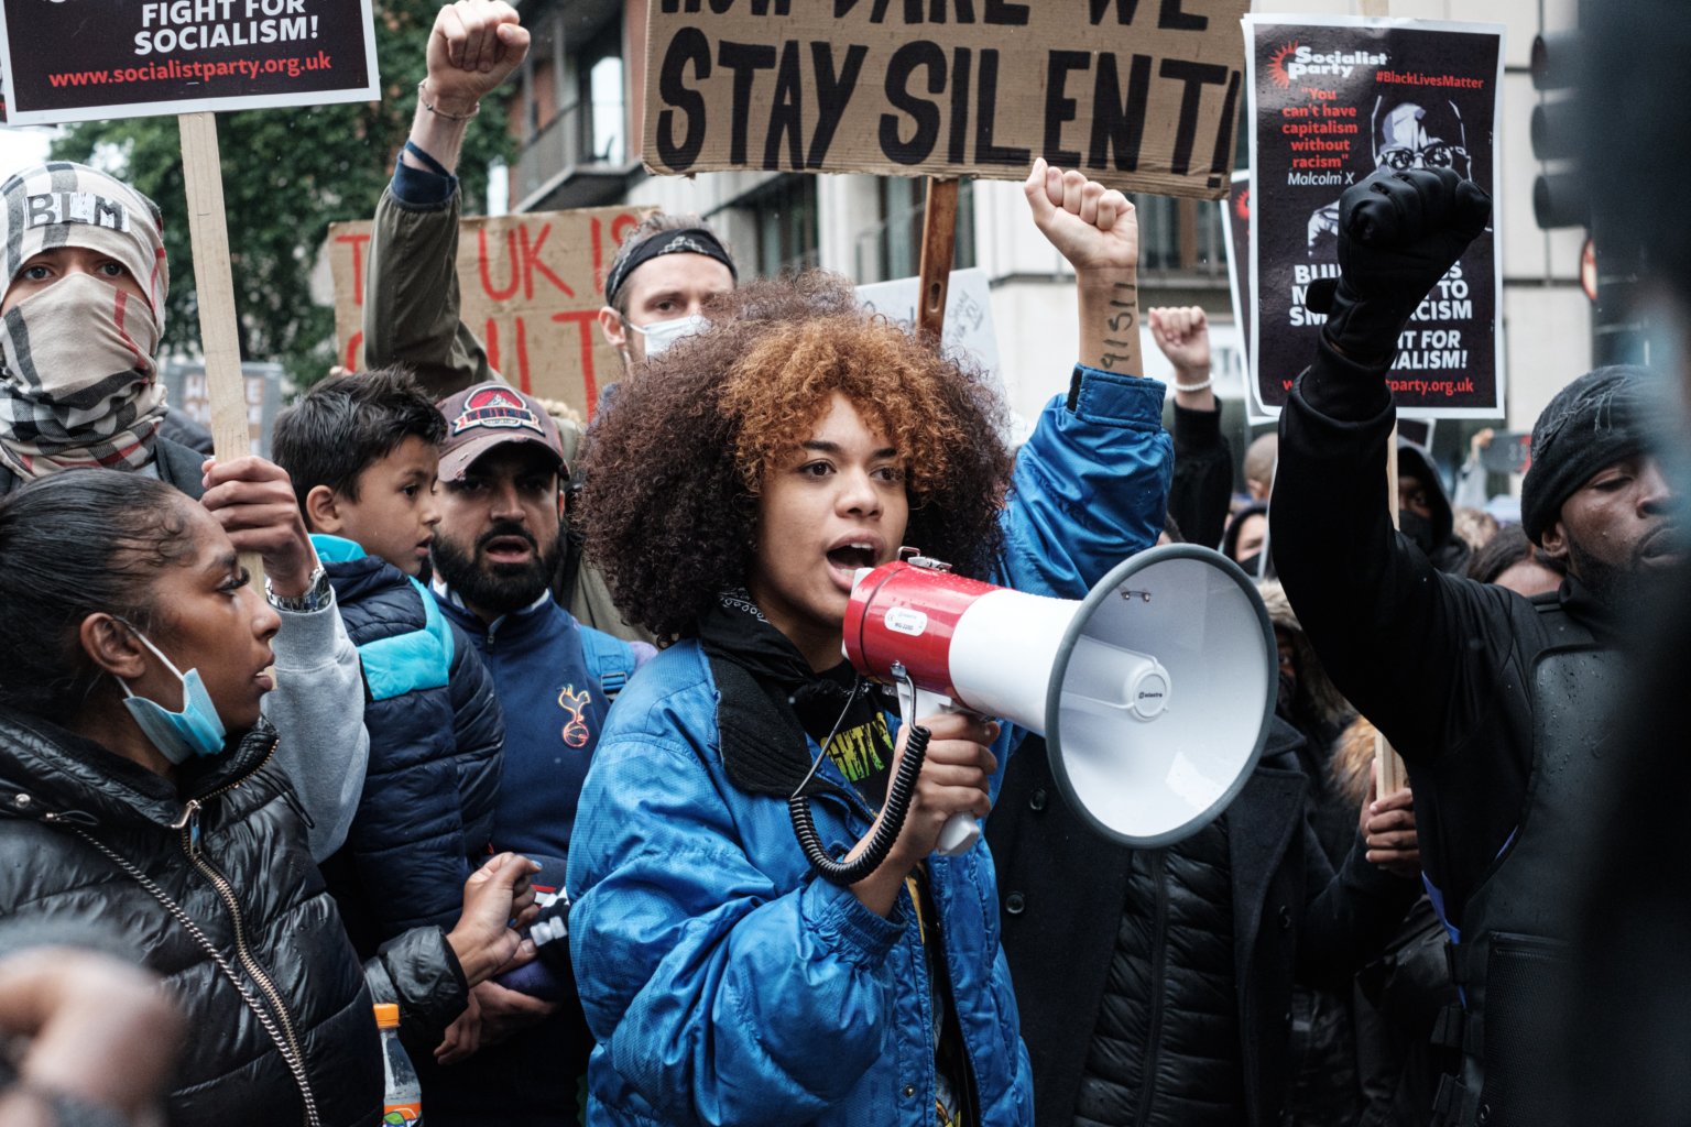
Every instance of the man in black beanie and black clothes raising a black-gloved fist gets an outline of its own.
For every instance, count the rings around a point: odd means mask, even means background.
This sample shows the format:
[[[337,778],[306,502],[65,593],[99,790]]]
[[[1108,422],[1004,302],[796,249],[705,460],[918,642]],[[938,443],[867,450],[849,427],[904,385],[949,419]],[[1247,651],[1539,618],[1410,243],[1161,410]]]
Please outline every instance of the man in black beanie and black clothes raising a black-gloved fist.
[[[1480,235],[1490,199],[1447,169],[1375,174],[1339,201],[1336,286],[1314,363],[1280,416],[1273,554],[1334,684],[1409,764],[1429,894],[1463,1005],[1437,1026],[1461,1066],[1439,1124],[1557,1122],[1530,1068],[1559,1027],[1561,919],[1584,796],[1627,678],[1627,615],[1676,574],[1672,490],[1645,444],[1645,373],[1564,387],[1532,433],[1522,524],[1568,564],[1525,598],[1434,569],[1393,532],[1380,470],[1385,385],[1415,306]]]

